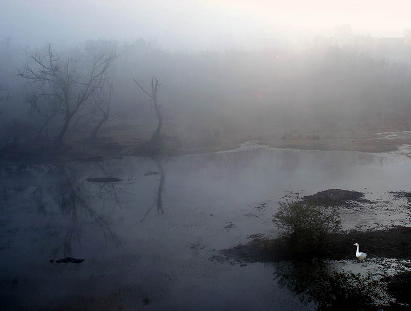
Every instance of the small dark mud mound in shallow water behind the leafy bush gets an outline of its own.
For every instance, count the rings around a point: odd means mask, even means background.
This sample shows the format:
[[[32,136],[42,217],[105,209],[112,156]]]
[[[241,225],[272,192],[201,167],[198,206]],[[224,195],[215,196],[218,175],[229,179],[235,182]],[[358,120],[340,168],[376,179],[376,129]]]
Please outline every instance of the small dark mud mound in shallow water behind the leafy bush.
[[[329,206],[358,206],[357,203],[372,203],[363,199],[364,193],[359,191],[328,189],[315,193],[315,195],[305,196],[301,200],[310,205],[329,205]]]

